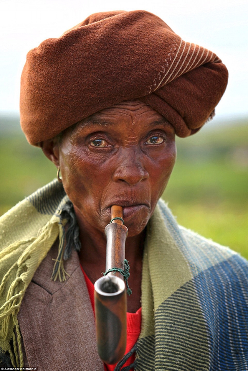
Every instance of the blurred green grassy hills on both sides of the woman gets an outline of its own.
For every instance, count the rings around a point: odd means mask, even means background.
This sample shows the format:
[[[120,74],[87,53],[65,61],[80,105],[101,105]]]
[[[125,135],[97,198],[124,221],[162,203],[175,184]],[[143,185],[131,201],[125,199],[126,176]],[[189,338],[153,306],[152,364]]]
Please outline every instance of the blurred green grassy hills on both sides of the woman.
[[[16,116],[0,116],[0,215],[51,181],[54,165],[31,147]],[[248,259],[248,119],[206,124],[177,138],[163,194],[179,224]]]

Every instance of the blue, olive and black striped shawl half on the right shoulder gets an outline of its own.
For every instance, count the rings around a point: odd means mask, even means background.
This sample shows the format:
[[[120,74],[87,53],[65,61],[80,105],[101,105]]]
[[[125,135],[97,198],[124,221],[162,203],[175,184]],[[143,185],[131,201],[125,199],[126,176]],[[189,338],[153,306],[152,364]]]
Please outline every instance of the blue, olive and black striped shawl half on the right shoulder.
[[[158,207],[148,225],[136,370],[248,370],[247,261]]]

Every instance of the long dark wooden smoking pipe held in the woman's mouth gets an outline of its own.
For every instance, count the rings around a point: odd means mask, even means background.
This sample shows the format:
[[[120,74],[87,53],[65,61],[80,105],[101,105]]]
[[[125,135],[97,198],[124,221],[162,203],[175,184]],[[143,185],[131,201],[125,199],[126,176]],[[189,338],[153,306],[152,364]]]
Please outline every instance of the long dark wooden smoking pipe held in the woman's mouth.
[[[116,218],[116,219],[115,219]],[[107,239],[106,272],[124,270],[125,242],[128,229],[123,225],[121,206],[111,207],[111,222],[105,227]],[[97,350],[107,364],[122,359],[126,350],[126,286],[118,271],[107,273],[94,284]]]

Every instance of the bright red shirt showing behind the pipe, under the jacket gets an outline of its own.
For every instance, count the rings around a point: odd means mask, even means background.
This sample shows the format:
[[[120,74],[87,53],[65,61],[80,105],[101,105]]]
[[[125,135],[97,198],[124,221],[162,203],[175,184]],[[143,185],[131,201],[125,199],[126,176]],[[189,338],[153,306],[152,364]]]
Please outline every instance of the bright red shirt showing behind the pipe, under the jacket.
[[[90,295],[90,301],[94,312],[94,285],[86,276],[82,266],[81,269],[84,274],[84,279],[88,288],[88,293]],[[95,314],[95,313],[94,313]],[[133,346],[135,345],[136,341],[138,340],[139,334],[141,332],[141,308],[138,309],[136,313],[126,313],[126,320],[127,320],[127,339],[126,339],[126,351],[125,354],[131,351]],[[131,365],[135,360],[135,354],[128,358],[126,363],[123,367]],[[104,363],[104,370],[105,371],[114,371],[115,365],[106,365]],[[131,371],[133,368],[131,369]]]

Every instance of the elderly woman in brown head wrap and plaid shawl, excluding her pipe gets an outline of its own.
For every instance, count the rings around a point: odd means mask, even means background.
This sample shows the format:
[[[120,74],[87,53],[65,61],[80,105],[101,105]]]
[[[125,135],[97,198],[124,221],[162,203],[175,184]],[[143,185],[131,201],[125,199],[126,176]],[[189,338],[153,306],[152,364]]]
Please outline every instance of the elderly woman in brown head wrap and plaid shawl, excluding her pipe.
[[[248,370],[247,262],[179,226],[160,200],[175,134],[212,118],[227,77],[214,53],[145,11],[93,14],[28,53],[21,125],[58,180],[0,221],[2,365]],[[112,205],[129,230],[132,295],[126,355],[106,365],[93,283]]]

